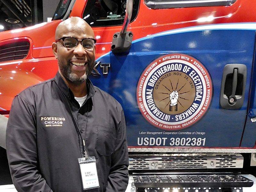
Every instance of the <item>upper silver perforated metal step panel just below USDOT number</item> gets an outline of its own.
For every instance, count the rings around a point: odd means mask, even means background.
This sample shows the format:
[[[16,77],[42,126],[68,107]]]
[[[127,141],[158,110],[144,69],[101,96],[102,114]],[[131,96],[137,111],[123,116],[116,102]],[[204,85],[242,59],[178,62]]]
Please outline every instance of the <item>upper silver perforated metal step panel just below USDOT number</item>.
[[[242,168],[244,158],[236,153],[157,154],[129,156],[129,170]]]

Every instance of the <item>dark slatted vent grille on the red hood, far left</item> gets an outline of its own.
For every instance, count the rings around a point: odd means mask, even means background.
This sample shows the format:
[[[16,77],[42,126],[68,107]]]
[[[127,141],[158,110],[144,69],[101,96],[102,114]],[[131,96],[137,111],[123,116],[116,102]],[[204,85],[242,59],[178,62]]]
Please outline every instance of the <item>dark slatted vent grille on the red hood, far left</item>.
[[[28,55],[29,42],[19,41],[0,46],[0,62],[24,59]]]

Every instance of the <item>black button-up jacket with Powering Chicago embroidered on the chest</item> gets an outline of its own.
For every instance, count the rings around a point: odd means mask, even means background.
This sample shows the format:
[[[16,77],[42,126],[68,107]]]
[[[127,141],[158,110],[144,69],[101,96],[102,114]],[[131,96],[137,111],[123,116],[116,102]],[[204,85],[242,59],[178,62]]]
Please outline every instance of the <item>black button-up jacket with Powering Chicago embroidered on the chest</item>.
[[[100,188],[88,191],[125,191],[128,149],[123,109],[90,80],[87,89],[88,97],[80,108],[57,73],[14,98],[6,146],[13,184],[19,192],[84,191],[77,160],[84,157],[82,137],[88,155],[96,157],[100,183]]]

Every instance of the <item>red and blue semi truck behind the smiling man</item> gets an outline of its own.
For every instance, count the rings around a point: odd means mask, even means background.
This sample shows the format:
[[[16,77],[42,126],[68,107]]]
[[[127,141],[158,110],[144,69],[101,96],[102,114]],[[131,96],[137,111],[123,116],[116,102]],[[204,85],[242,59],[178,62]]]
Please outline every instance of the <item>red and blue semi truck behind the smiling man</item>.
[[[0,146],[13,98],[55,76],[55,29],[77,16],[97,40],[90,80],[124,109],[127,192],[256,191],[255,7],[60,0],[52,21],[1,32]]]

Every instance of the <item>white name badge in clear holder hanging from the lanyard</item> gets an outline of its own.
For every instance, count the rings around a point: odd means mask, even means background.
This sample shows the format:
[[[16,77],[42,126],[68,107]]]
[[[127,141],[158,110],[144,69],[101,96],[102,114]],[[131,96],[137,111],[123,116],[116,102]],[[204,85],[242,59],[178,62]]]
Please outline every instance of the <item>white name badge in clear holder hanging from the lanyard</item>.
[[[81,172],[81,178],[84,190],[99,188],[99,179],[96,168],[96,159],[94,156],[86,158],[78,158]]]

